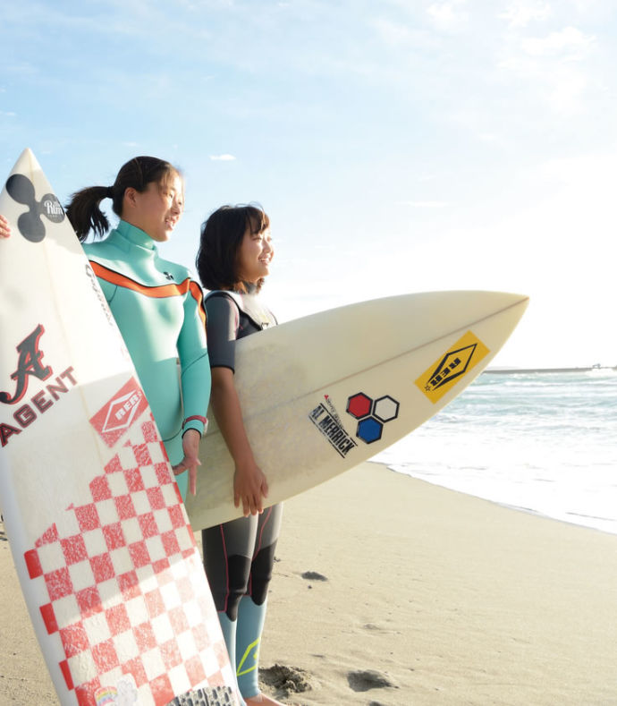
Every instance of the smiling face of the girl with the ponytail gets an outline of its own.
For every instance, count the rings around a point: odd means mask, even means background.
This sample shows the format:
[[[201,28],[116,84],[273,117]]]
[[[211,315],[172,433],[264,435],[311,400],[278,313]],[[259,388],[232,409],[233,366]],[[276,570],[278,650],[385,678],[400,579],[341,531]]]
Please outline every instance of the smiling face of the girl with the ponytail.
[[[124,192],[123,220],[136,225],[156,242],[169,240],[182,217],[184,184],[180,174],[168,174],[161,182],[150,182],[145,191]]]

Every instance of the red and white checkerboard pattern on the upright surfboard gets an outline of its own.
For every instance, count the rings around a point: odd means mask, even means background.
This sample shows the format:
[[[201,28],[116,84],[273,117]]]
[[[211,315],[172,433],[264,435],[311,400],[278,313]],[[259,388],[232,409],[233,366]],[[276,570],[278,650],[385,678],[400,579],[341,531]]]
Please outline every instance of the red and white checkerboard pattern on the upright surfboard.
[[[50,640],[61,643],[67,688],[97,706],[115,685],[139,704],[166,704],[198,685],[232,684],[199,549],[151,414],[25,553]],[[62,653],[62,652],[61,652]]]

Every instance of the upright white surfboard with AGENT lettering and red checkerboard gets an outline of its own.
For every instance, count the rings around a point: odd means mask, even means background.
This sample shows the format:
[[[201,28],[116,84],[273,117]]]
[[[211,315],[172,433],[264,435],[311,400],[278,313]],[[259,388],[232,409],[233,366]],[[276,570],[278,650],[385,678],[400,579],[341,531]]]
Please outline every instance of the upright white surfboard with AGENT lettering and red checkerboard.
[[[236,703],[148,403],[29,149],[0,213],[0,506],[60,702]]]

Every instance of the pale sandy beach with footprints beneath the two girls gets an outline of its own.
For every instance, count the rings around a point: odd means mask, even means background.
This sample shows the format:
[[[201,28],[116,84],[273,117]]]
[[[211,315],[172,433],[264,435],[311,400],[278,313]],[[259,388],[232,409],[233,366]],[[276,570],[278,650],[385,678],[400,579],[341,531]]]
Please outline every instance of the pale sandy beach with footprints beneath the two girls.
[[[54,689],[0,525],[0,703]],[[261,667],[288,704],[617,704],[617,536],[362,464],[286,503]]]

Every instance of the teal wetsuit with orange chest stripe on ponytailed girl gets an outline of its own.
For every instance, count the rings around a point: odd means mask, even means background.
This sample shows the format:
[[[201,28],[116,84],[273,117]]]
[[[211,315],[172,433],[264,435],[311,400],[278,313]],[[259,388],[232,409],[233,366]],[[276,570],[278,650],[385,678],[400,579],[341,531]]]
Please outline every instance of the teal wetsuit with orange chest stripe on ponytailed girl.
[[[205,432],[210,396],[201,288],[187,268],[160,258],[152,238],[125,221],[105,240],[83,248],[131,353],[169,460],[179,464],[182,433]],[[176,481],[185,498],[188,472]]]

